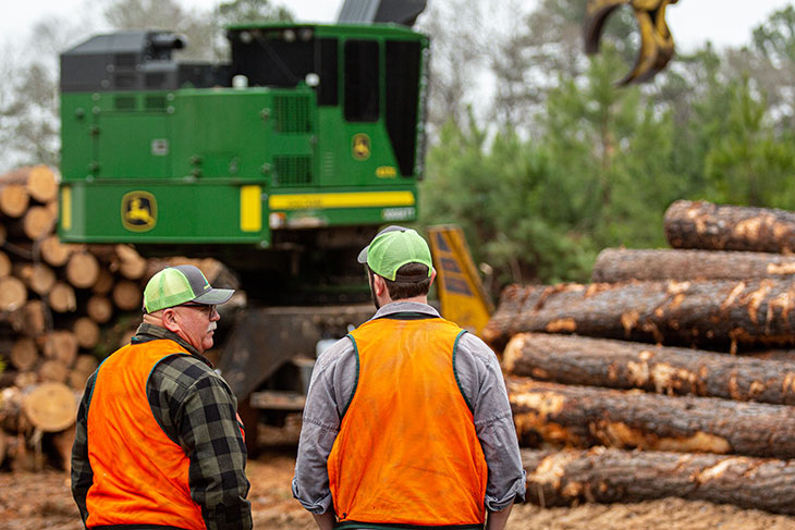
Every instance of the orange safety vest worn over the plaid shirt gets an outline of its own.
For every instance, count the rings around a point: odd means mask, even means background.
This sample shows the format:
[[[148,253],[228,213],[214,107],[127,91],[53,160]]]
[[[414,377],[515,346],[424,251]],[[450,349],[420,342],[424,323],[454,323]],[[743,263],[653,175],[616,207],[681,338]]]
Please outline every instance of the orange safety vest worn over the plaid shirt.
[[[88,528],[206,528],[201,507],[191,498],[188,456],[166,435],[146,397],[151,370],[173,354],[191,355],[169,340],[131,344],[99,368],[87,419],[94,471],[86,498]]]

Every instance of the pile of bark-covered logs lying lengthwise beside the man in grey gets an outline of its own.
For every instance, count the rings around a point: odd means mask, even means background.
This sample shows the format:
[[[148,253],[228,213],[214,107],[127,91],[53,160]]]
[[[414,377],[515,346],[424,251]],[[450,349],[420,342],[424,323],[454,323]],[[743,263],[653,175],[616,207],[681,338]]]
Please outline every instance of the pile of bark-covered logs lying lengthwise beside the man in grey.
[[[594,283],[503,292],[484,337],[528,497],[795,515],[795,213],[677,201],[664,226],[671,249],[607,249]]]

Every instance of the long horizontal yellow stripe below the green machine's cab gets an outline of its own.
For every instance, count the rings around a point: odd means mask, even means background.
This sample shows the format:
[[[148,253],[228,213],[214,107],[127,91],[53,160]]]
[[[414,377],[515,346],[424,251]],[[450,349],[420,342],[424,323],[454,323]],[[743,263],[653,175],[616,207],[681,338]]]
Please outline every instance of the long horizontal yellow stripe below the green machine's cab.
[[[338,194],[271,195],[271,210],[311,210],[318,208],[381,208],[414,206],[412,192],[362,192]]]

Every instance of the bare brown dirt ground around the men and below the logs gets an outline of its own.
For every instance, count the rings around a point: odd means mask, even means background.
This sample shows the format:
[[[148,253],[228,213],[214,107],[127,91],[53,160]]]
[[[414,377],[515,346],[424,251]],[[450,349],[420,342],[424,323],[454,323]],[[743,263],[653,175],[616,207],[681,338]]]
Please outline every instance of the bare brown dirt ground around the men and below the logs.
[[[264,435],[264,436],[262,436]],[[311,516],[292,498],[293,435],[261,432],[270,442],[247,466],[254,528],[313,530]],[[668,498],[638,504],[543,509],[514,507],[509,530],[795,530],[795,517],[704,502]],[[80,530],[83,528],[62,471],[0,472],[0,530]]]

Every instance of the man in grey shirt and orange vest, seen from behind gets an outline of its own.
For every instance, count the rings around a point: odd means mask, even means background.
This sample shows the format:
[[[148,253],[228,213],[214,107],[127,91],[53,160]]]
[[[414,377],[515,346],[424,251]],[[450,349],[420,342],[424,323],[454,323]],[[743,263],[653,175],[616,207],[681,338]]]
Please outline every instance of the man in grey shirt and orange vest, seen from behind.
[[[428,305],[417,232],[384,229],[358,261],[377,312],[315,365],[293,495],[321,530],[502,530],[525,473],[497,357]]]

